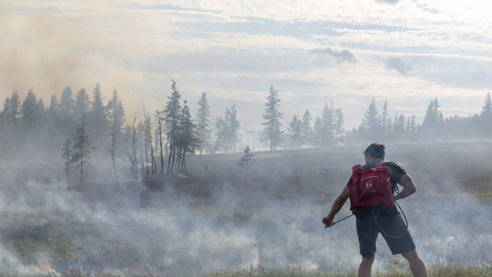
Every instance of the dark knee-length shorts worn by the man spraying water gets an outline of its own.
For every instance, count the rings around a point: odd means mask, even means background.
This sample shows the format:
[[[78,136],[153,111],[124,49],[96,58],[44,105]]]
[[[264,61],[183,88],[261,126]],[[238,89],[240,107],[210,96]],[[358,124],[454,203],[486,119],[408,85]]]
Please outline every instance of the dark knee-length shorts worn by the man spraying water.
[[[397,208],[375,213],[375,215],[377,222],[388,235],[399,237],[405,232],[405,222]],[[374,252],[376,252],[376,240],[379,233],[383,236],[393,255],[406,253],[415,249],[415,244],[409,231],[399,239],[388,237],[377,227],[372,214],[357,216],[356,227],[357,236],[359,237],[359,247],[363,257],[371,258]]]

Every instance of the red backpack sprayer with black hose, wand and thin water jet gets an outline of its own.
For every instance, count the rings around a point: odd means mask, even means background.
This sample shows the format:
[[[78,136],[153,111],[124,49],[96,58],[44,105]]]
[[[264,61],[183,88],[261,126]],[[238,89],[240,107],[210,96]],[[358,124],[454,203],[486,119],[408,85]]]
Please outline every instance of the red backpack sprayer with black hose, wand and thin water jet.
[[[354,215],[364,216],[364,215],[372,214],[377,226],[379,227],[379,230],[381,230],[381,232],[386,236],[398,239],[406,234],[406,232],[408,231],[408,221],[406,219],[405,213],[401,209],[400,205],[396,203],[393,197],[393,190],[391,188],[391,182],[390,182],[391,169],[389,167],[384,166],[386,163],[387,162],[380,162],[373,169],[364,169],[362,165],[356,165],[352,167],[352,184],[348,186],[349,198],[350,198],[350,210],[352,211],[352,214],[338,221],[334,221],[333,225]],[[374,214],[389,208],[393,208],[395,204],[398,206],[398,208],[400,208],[400,211],[403,214],[403,217],[405,218],[406,230],[400,236],[392,236],[386,233],[377,222],[376,216]],[[328,224],[328,222],[326,222],[325,219],[323,219],[323,223],[325,225]],[[324,229],[326,228],[328,228],[328,226],[325,226]],[[299,242],[309,236],[318,233],[321,230],[323,229],[311,233],[306,237],[303,237],[297,241],[290,242],[289,244],[286,244],[274,251],[266,253],[257,259],[260,259],[275,251],[278,251],[283,247],[286,247],[292,243]]]

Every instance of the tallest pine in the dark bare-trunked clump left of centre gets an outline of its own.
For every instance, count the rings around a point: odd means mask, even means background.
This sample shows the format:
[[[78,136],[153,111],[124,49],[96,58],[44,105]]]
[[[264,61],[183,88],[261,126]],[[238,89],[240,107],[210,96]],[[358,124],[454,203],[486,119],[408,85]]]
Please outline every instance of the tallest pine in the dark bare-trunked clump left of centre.
[[[166,137],[168,139],[169,143],[169,157],[167,160],[167,172],[169,173],[170,171],[173,171],[174,163],[176,162],[177,158],[177,135],[179,134],[179,119],[180,119],[180,111],[181,111],[181,104],[180,104],[180,99],[181,95],[176,87],[176,82],[172,80],[173,84],[171,85],[171,89],[173,90],[171,96],[168,96],[167,99],[169,101],[166,104],[166,107],[164,109],[164,114],[165,114],[165,122],[168,127],[168,131],[166,133]],[[171,164],[171,159],[172,159],[172,164]]]

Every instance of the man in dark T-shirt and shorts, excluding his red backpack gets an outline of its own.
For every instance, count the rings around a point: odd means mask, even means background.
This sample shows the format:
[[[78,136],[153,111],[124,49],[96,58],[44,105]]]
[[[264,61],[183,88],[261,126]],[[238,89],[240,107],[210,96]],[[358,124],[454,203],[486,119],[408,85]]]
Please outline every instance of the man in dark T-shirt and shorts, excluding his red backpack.
[[[366,165],[363,166],[364,170],[375,168],[380,162],[384,161],[386,154],[386,147],[381,143],[372,143],[364,151],[364,157]],[[397,191],[397,183],[403,187],[400,193],[394,194],[395,201],[406,198],[417,191],[415,183],[412,178],[396,163],[388,162],[384,165],[391,169],[391,188],[393,193]],[[340,211],[345,202],[349,199],[348,185],[352,184],[352,178],[348,181],[341,194],[333,203],[328,216],[323,218],[323,223],[326,226],[333,226],[333,219],[335,215]],[[413,243],[412,236],[401,218],[400,212],[396,206],[383,210],[374,214],[377,223],[381,228],[390,236],[400,236],[403,232],[406,233],[396,239],[381,233],[381,236],[385,239],[393,255],[401,254],[408,260],[410,270],[414,277],[428,277],[427,268],[420,258],[415,244]],[[357,216],[356,215],[356,227],[357,236],[359,237],[360,253],[362,255],[362,262],[359,266],[358,277],[370,277],[372,263],[374,262],[374,255],[376,252],[376,240],[380,233],[380,229],[374,221],[372,214]]]

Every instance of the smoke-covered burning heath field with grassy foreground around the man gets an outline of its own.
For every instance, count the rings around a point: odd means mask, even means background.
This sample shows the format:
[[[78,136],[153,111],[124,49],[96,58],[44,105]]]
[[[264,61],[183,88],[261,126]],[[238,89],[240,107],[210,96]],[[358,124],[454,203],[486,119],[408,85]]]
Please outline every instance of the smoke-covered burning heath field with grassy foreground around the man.
[[[361,148],[259,152],[247,178],[235,165],[240,153],[204,155],[190,158],[187,177],[93,178],[79,188],[63,181],[55,163],[3,165],[0,271],[356,276],[355,219],[324,229],[321,218],[350,168],[363,163]],[[492,276],[492,144],[389,145],[387,151],[386,160],[401,164],[417,184],[417,194],[400,206],[432,276]],[[90,174],[105,170],[97,166]],[[346,206],[337,218],[349,214]],[[377,248],[374,275],[410,276],[384,240]]]

